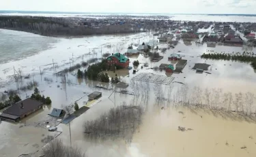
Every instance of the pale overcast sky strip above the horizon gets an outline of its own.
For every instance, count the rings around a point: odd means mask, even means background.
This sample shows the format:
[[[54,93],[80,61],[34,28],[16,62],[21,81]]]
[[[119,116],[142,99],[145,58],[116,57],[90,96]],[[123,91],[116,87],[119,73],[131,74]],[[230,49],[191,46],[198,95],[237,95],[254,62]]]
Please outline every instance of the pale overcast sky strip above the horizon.
[[[0,0],[0,10],[256,14],[256,0]]]

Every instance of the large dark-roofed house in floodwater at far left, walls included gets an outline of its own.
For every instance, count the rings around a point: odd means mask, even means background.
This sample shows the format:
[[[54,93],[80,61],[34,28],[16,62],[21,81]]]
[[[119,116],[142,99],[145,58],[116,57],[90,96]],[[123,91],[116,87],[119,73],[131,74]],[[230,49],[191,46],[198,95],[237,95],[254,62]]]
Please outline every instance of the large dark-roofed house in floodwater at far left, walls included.
[[[3,111],[3,113],[0,115],[0,119],[7,119],[16,122],[24,117],[27,117],[27,115],[42,109],[42,105],[42,102],[27,98],[13,104],[8,109]]]

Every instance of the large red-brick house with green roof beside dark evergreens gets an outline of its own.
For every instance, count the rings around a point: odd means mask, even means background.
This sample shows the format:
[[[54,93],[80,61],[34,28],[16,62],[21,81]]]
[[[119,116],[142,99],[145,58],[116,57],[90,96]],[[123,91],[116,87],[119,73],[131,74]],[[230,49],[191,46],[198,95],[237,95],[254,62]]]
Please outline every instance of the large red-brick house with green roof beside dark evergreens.
[[[108,66],[120,66],[122,68],[128,68],[129,59],[121,53],[115,53],[106,58],[106,64]]]

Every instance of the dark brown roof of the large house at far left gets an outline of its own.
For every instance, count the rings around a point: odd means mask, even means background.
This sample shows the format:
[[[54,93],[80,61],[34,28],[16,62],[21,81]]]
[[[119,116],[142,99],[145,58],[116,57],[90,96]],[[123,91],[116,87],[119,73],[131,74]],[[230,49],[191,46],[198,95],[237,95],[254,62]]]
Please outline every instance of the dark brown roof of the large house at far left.
[[[23,108],[21,107],[21,103],[23,103]],[[3,111],[3,113],[20,116],[29,111],[33,111],[34,109],[38,109],[38,107],[42,104],[42,102],[32,100],[31,98],[27,98],[25,100],[17,102],[16,104],[13,104],[12,106],[10,106],[10,108]]]

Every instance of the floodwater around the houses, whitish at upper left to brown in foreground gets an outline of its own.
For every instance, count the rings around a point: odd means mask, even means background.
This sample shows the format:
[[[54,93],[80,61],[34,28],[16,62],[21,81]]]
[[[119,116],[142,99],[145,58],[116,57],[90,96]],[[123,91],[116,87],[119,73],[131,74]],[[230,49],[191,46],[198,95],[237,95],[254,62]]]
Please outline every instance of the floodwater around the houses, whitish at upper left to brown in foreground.
[[[102,92],[102,97],[98,102],[92,104],[90,109],[76,117],[70,123],[71,142],[76,145],[87,156],[106,157],[144,157],[144,156],[256,156],[256,125],[254,117],[242,117],[238,113],[217,111],[212,109],[201,109],[195,106],[175,106],[172,102],[159,102],[156,100],[156,90],[154,83],[150,83],[150,94],[145,96],[131,96],[119,94],[121,89],[113,93],[115,85],[111,83],[99,83],[87,79],[77,79],[76,72],[69,72],[66,79],[69,83],[63,83],[63,76],[53,75],[64,68],[69,68],[81,61],[93,58],[101,58],[103,53],[125,53],[129,44],[147,42],[156,38],[152,33],[137,33],[127,35],[96,35],[85,38],[54,39],[58,42],[51,45],[50,49],[28,55],[25,59],[16,61],[6,61],[0,65],[0,91],[16,89],[13,74],[20,69],[24,76],[31,74],[30,78],[23,79],[18,83],[19,87],[27,85],[29,81],[37,81],[38,89],[44,96],[50,96],[51,106],[44,106],[43,109],[29,115],[18,123],[0,122],[0,156],[19,156],[23,153],[33,153],[35,156],[42,154],[41,148],[46,145],[44,138],[51,136],[61,139],[66,145],[70,145],[70,133],[68,124],[59,124],[58,133],[48,132],[46,128],[38,124],[47,122],[51,118],[48,114],[53,108],[63,109],[64,106],[78,102],[79,107],[85,106],[88,101],[87,95],[93,91]],[[107,46],[108,45],[108,46]],[[167,48],[167,44],[159,44],[159,48]],[[164,71],[154,71],[151,68],[160,66],[161,63],[173,63],[168,61],[171,53],[180,53],[182,59],[187,59],[188,63],[182,73],[172,74],[173,95],[181,87],[180,83],[188,85],[189,89],[200,87],[212,90],[221,88],[224,92],[236,94],[251,92],[256,95],[256,74],[249,63],[236,61],[217,61],[201,59],[199,55],[214,52],[240,52],[254,51],[255,48],[246,49],[242,47],[216,46],[208,48],[206,44],[196,45],[191,42],[186,46],[182,40],[175,48],[167,49],[158,62],[151,62],[143,55],[130,57],[132,62],[138,60],[141,64],[137,68],[136,74],[132,70],[108,71],[110,77],[117,75],[121,81],[131,83],[131,79],[142,73],[154,73],[166,76]],[[51,63],[57,63],[56,70]],[[148,63],[149,67],[143,67]],[[208,63],[208,72],[197,74],[192,70],[195,63]],[[133,66],[132,66],[133,67]],[[40,75],[40,69],[42,75]],[[85,70],[86,68],[81,68]],[[177,83],[180,82],[180,83]],[[96,85],[106,89],[97,88]],[[132,85],[126,89],[134,92]],[[168,85],[162,85],[163,97],[167,98]],[[139,91],[143,93],[142,91]],[[33,94],[33,90],[19,91],[22,99]],[[177,94],[176,94],[177,95]],[[221,97],[223,97],[221,95]],[[143,120],[141,126],[134,133],[132,141],[128,143],[124,139],[111,139],[106,141],[92,141],[85,137],[83,124],[86,121],[98,119],[103,113],[107,113],[111,108],[126,104],[139,105],[143,107]],[[205,100],[202,99],[203,103]],[[221,106],[225,108],[225,104]],[[235,109],[235,106],[231,106]],[[255,112],[256,105],[253,104],[251,110]],[[252,115],[254,116],[254,115]],[[177,130],[178,127],[185,127],[186,131]],[[188,128],[192,130],[188,130]],[[29,143],[29,144],[27,144]],[[246,147],[241,149],[241,147]],[[14,148],[16,151],[14,152]],[[37,152],[38,151],[38,152]]]

